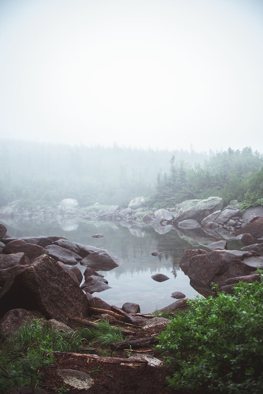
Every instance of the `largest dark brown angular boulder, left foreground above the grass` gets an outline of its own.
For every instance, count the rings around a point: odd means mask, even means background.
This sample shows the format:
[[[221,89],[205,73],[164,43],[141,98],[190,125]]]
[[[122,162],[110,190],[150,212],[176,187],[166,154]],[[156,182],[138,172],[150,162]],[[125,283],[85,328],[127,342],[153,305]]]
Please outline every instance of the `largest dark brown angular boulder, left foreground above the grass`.
[[[39,256],[4,286],[0,316],[11,309],[38,310],[47,319],[67,324],[88,316],[88,299],[78,284],[50,256]]]

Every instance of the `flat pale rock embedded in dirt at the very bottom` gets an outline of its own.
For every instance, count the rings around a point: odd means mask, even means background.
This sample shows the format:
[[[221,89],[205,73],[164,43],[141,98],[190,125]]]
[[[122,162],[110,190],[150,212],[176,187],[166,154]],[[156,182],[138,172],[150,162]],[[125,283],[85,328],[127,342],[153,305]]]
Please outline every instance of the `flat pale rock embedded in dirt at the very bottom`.
[[[57,368],[56,374],[66,385],[69,385],[72,389],[78,389],[78,391],[86,391],[94,385],[94,380],[84,371]]]

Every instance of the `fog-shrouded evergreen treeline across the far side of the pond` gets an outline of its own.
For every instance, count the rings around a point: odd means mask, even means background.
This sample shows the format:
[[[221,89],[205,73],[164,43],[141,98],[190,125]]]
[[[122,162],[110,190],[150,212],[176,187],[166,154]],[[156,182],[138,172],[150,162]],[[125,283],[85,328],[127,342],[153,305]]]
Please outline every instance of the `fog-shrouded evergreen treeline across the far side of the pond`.
[[[143,195],[151,205],[171,207],[210,195],[246,204],[263,197],[263,155],[249,147],[198,153],[0,142],[0,206],[19,200],[20,206],[42,208],[64,198],[83,207],[127,206]]]

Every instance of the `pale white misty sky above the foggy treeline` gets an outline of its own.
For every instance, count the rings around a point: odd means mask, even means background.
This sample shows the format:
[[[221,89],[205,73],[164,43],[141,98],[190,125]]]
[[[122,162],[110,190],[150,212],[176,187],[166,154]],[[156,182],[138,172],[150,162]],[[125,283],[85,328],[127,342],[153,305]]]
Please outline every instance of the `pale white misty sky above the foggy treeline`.
[[[0,0],[0,133],[263,152],[263,1]]]

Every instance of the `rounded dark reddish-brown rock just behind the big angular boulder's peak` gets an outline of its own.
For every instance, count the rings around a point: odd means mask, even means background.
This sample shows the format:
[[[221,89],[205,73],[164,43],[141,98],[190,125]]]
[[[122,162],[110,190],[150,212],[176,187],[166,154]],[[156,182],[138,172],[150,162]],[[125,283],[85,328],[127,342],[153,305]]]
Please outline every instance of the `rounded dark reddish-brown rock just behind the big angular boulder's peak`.
[[[24,253],[30,260],[34,258],[47,254],[47,249],[42,246],[35,245],[34,243],[26,243],[24,240],[17,239],[11,242],[8,242],[3,249],[3,252],[6,255],[11,255],[15,253]]]

